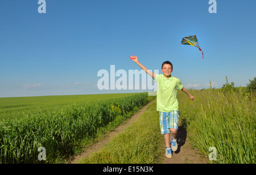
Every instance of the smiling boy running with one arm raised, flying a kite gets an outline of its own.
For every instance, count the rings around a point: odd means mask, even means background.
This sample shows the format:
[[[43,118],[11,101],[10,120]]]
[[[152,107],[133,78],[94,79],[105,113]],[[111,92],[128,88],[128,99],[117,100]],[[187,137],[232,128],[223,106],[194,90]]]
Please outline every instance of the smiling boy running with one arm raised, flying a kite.
[[[161,134],[164,135],[164,140],[166,142],[166,157],[172,157],[172,151],[177,150],[176,135],[179,122],[179,106],[176,87],[185,92],[192,101],[194,100],[194,97],[183,87],[180,79],[171,75],[173,66],[170,61],[163,62],[161,69],[163,74],[158,75],[143,66],[136,56],[130,58],[158,83],[156,110],[159,111],[160,130]]]

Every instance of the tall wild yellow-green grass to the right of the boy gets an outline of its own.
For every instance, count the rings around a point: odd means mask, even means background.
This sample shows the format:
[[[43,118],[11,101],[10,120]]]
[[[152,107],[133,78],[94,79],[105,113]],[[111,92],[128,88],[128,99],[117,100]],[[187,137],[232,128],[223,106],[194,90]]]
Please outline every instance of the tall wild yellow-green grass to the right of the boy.
[[[217,160],[210,163],[255,163],[255,95],[221,89],[192,90],[195,101],[178,92],[181,121],[193,146],[208,158],[216,147]]]

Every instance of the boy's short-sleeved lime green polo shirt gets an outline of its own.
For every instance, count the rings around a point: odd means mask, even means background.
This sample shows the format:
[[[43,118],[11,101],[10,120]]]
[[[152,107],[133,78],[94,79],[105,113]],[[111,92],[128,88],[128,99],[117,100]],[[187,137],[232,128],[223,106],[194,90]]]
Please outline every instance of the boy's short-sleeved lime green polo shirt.
[[[159,112],[171,112],[179,110],[177,101],[177,89],[183,88],[179,78],[171,75],[170,78],[165,78],[163,74],[155,74],[154,81],[158,83],[158,93],[156,96],[156,110]]]

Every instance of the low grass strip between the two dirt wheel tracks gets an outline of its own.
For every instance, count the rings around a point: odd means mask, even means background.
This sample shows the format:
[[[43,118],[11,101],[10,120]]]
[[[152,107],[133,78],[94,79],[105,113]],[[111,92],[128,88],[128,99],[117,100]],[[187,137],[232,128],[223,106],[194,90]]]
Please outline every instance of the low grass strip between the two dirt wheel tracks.
[[[79,163],[86,164],[156,164],[162,163],[164,139],[159,131],[156,101],[148,106],[125,130],[116,135],[102,150]]]

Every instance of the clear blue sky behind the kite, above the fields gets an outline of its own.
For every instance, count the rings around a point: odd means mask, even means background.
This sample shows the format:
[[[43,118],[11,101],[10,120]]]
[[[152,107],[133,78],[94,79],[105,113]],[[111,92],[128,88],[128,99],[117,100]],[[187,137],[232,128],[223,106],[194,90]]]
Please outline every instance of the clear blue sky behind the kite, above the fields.
[[[151,70],[163,61],[186,88],[219,88],[225,76],[246,86],[256,76],[256,1],[2,1],[0,97],[142,92],[99,90],[99,70]],[[196,35],[202,54],[181,45]],[[162,73],[162,72],[160,72]],[[116,78],[118,79],[118,77]]]

